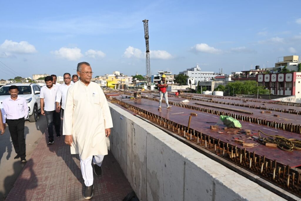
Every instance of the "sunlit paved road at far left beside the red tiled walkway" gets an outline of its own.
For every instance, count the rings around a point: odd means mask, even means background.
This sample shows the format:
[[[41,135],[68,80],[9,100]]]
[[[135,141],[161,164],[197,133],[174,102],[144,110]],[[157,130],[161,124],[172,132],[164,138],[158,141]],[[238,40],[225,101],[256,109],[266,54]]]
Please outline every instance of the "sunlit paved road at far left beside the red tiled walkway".
[[[39,139],[44,135],[46,128],[46,119],[43,115],[39,115],[37,122],[25,122],[27,160],[29,160]],[[7,127],[5,133],[0,136],[0,200],[4,200],[7,196],[24,167],[20,159],[14,159],[15,156],[16,153]]]

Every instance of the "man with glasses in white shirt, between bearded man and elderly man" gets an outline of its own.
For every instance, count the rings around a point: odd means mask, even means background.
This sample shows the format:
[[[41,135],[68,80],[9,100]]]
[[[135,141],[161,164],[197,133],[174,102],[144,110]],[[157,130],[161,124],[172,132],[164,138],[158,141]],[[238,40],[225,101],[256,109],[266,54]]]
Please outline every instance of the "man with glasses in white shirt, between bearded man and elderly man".
[[[64,110],[65,110],[65,105],[66,105],[66,97],[67,97],[67,91],[68,88],[73,85],[71,82],[71,75],[70,73],[64,73],[64,84],[60,85],[57,90],[57,95],[55,99],[56,103],[56,112],[59,113],[60,110],[62,109],[62,113],[64,116]],[[60,103],[62,105],[60,106]]]

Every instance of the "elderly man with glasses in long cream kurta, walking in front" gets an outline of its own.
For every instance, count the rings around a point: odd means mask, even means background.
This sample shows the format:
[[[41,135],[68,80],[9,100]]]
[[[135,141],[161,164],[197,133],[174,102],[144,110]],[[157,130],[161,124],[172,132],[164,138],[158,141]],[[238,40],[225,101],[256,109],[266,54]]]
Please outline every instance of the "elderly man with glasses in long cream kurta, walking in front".
[[[85,199],[91,199],[93,168],[95,174],[100,176],[104,155],[108,154],[106,137],[110,135],[113,123],[104,92],[99,85],[91,82],[90,64],[79,63],[77,74],[80,80],[67,92],[63,135],[65,143],[71,146],[71,154],[79,154],[82,177],[86,186],[83,196]]]

